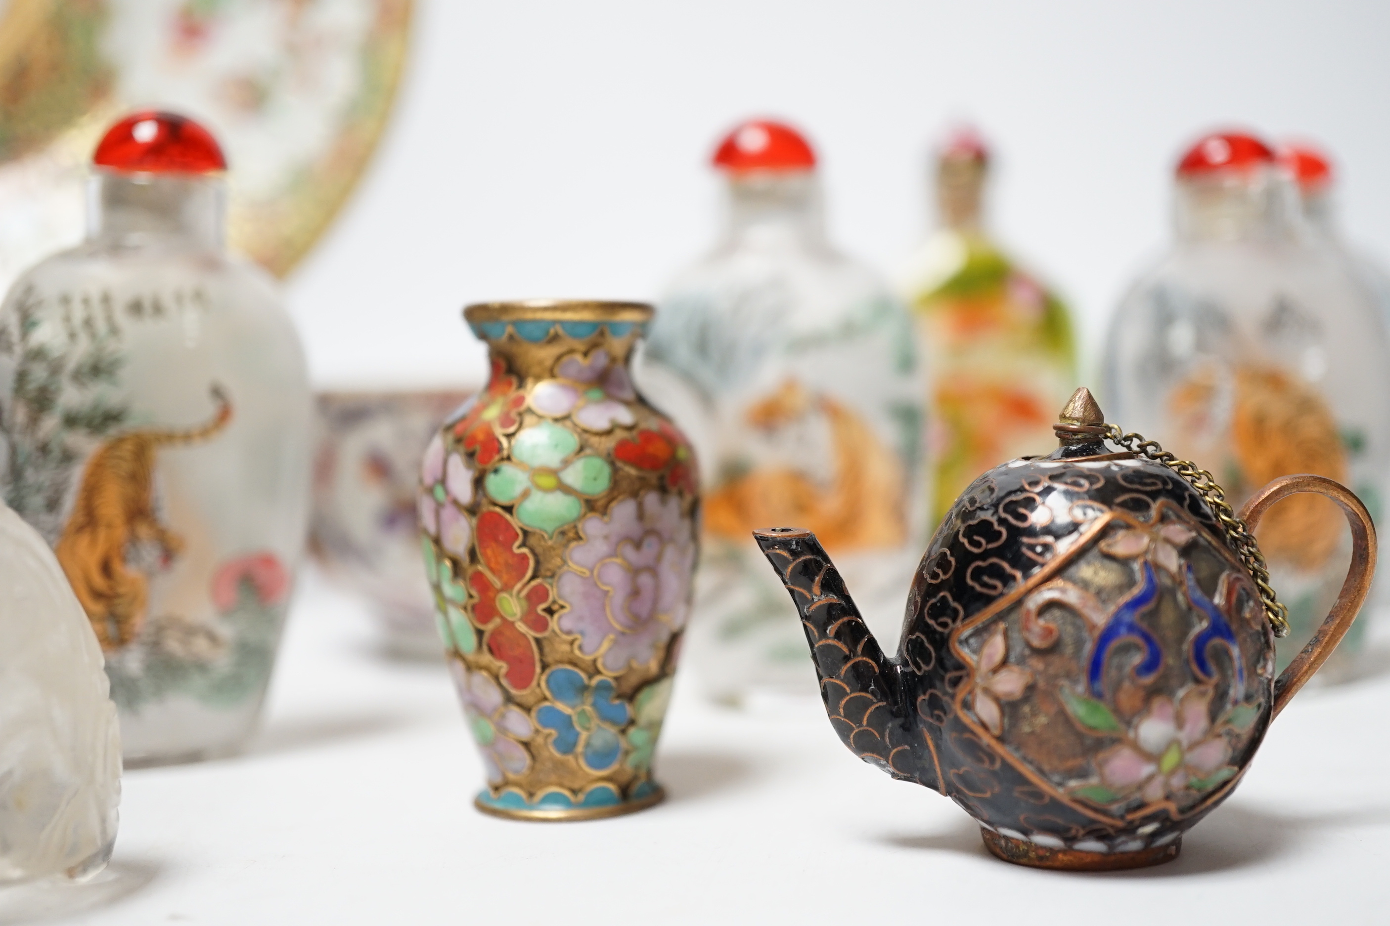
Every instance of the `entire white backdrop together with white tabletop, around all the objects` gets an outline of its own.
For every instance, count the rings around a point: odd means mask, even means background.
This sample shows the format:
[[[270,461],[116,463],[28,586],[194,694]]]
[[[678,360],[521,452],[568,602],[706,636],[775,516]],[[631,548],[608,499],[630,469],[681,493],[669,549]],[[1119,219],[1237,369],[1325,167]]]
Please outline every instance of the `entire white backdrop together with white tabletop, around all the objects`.
[[[885,267],[923,229],[930,140],[972,118],[998,151],[1002,237],[1094,350],[1207,126],[1326,142],[1351,236],[1390,254],[1387,39],[1371,3],[421,0],[391,132],[292,308],[320,383],[477,382],[463,303],[651,297],[709,243],[705,161],[737,118],[803,125],[835,239]],[[1179,861],[1065,875],[988,858],[958,808],[862,766],[815,704],[720,711],[688,672],[656,759],[667,804],[485,818],[446,673],[384,662],[368,626],[310,582],[247,755],[129,772],[108,872],[0,893],[0,923],[1390,919],[1386,673],[1301,694]]]

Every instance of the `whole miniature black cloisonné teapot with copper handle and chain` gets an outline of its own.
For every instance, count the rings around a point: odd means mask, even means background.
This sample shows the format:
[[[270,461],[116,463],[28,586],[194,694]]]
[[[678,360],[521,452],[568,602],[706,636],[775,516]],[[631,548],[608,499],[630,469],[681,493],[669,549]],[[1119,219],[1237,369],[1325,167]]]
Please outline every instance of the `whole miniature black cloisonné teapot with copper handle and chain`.
[[[755,537],[851,751],[951,797],[1005,861],[1154,865],[1232,793],[1351,626],[1375,528],[1348,489],[1309,475],[1270,482],[1236,518],[1209,473],[1106,425],[1086,389],[1055,432],[1049,455],[997,466],[956,500],[917,568],[895,658],[815,534]],[[1251,532],[1300,491],[1341,507],[1352,559],[1322,629],[1276,679],[1287,625]]]

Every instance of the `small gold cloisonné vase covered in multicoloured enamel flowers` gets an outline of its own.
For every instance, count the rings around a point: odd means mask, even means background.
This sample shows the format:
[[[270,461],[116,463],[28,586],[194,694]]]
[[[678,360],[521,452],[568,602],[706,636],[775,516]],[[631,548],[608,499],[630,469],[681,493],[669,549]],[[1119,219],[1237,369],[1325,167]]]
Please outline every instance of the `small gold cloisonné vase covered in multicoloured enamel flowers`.
[[[470,305],[492,379],[425,450],[425,568],[488,786],[589,819],[662,800],[652,752],[689,614],[696,468],[632,389],[635,303]]]

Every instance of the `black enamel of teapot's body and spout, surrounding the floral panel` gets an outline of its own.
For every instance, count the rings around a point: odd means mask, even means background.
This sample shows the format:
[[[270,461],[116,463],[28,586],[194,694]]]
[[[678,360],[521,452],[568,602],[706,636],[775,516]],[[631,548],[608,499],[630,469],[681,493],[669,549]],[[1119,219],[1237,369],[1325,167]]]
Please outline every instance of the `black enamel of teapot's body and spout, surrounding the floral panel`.
[[[1104,444],[1093,450],[1109,451]],[[1054,800],[1002,761],[955,712],[954,697],[967,666],[949,647],[960,622],[1042,569],[1052,544],[1094,522],[1073,505],[1094,503],[1143,519],[1158,500],[1169,498],[1211,537],[1222,537],[1202,498],[1169,469],[1143,461],[1119,472],[1108,469],[1099,485],[1097,475],[1095,468],[1030,461],[998,466],[977,479],[937,529],[922,559],[897,658],[884,657],[815,537],[802,532],[763,534],[758,543],[802,615],[826,709],[856,755],[894,777],[940,790],[991,826],[1054,834],[1068,843],[1102,839],[1113,844],[1145,820],[1112,829]],[[1048,523],[1038,526],[1027,518],[1031,508],[1059,494],[1068,504],[1054,508]],[[1079,516],[1056,516],[1058,510]],[[1005,532],[1002,541],[997,529]],[[959,608],[942,608],[942,591]],[[1211,807],[1182,820],[1180,827],[1195,823]]]

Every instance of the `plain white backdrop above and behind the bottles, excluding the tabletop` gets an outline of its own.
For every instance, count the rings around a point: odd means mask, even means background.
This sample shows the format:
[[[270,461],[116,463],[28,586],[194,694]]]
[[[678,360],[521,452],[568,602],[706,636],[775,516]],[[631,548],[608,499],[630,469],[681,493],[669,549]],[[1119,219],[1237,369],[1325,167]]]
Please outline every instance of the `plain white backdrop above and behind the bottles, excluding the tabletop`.
[[[1079,312],[1168,235],[1212,126],[1323,142],[1350,237],[1390,255],[1390,4],[1115,0],[417,0],[370,172],[291,283],[320,383],[477,383],[467,301],[651,298],[712,242],[735,121],[801,125],[834,239],[885,271],[927,224],[930,144],[997,151],[1001,237]]]

